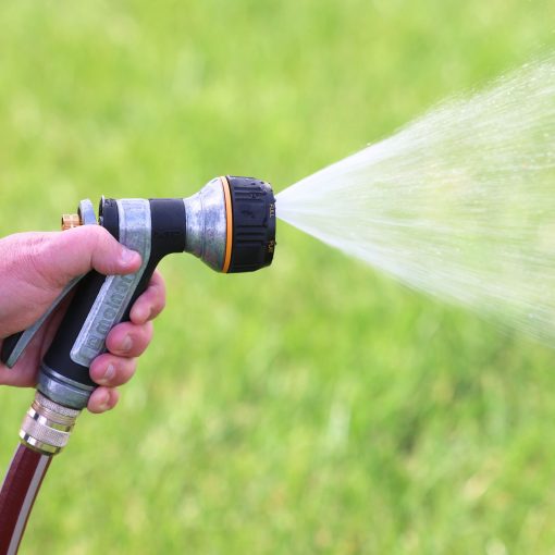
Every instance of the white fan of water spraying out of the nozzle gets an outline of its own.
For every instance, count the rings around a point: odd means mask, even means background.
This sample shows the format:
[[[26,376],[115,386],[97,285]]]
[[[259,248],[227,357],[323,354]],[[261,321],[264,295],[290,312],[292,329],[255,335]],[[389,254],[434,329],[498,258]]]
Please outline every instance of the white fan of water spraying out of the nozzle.
[[[276,207],[411,287],[555,346],[555,60],[436,107]]]

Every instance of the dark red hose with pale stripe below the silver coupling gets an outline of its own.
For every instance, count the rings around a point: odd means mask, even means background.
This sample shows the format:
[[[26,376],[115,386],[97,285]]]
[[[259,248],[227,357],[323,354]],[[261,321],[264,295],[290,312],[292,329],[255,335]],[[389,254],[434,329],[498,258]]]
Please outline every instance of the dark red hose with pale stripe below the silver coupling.
[[[17,553],[50,460],[24,445],[17,447],[0,491],[0,555]]]

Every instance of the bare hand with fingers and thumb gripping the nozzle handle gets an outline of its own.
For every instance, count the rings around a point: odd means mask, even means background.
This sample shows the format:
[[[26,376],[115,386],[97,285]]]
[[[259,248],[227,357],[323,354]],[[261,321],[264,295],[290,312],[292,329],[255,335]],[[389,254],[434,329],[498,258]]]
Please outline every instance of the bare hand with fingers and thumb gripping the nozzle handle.
[[[0,346],[1,340],[32,325],[42,316],[63,287],[90,270],[102,274],[133,273],[140,256],[123,247],[99,225],[64,232],[21,233],[0,239]],[[131,310],[131,321],[115,325],[107,337],[108,353],[96,358],[90,377],[99,384],[88,402],[91,412],[115,406],[118,385],[135,373],[135,357],[152,338],[152,322],[165,304],[164,282],[155,272],[147,291]],[[34,386],[42,356],[52,342],[67,303],[50,317],[17,363],[0,362],[0,384]]]

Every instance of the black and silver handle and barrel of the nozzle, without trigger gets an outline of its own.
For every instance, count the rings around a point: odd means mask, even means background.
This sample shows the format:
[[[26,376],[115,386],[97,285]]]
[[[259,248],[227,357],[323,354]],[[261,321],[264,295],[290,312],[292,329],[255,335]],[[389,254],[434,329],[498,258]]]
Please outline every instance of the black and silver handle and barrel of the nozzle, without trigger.
[[[110,330],[130,319],[159,261],[184,250],[185,208],[182,199],[102,199],[100,225],[143,257],[128,275],[89,272],[75,296],[40,367],[38,390],[61,405],[81,409],[96,387],[92,360],[106,351]]]

